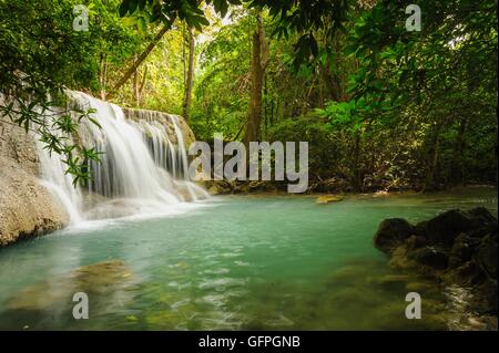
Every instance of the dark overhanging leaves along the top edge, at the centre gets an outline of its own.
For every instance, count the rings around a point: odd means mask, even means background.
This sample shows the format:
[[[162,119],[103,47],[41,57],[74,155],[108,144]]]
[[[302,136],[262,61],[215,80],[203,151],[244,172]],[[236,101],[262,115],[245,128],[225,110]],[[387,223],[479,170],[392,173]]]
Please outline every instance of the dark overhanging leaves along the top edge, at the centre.
[[[314,31],[327,28],[327,34],[332,35],[336,30],[343,29],[349,9],[348,0],[206,0],[204,2],[207,6],[213,4],[221,17],[227,14],[231,6],[242,3],[246,3],[249,8],[268,9],[269,15],[276,20],[274,34],[289,39],[291,34],[301,33],[294,45],[296,68],[319,54]],[[162,21],[171,27],[175,20],[181,20],[202,31],[203,27],[210,24],[202,6],[203,1],[198,0],[122,0],[120,15],[143,11],[147,13],[151,22]]]

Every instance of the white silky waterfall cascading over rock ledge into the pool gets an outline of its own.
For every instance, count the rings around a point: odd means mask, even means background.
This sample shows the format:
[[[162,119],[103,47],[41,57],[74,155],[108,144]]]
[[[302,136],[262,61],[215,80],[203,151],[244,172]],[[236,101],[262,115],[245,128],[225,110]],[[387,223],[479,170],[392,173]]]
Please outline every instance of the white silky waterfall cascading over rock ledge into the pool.
[[[81,92],[68,92],[71,104],[93,108],[93,117],[79,123],[72,141],[95,147],[100,162],[90,160],[91,179],[73,187],[59,155],[48,154],[37,143],[41,178],[68,210],[72,224],[98,218],[172,211],[185,201],[207,198],[207,193],[189,180],[187,154],[177,116],[167,124],[154,121],[147,111],[136,121],[123,110]],[[151,112],[152,113],[152,112]],[[142,115],[143,116],[142,116]],[[169,126],[173,129],[169,134]],[[173,127],[173,128],[172,128]]]

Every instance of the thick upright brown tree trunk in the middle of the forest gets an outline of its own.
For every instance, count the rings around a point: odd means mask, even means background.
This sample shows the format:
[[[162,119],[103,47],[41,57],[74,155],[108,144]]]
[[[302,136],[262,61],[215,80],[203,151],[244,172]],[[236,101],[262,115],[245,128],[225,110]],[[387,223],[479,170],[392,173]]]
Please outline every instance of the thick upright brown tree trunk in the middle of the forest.
[[[262,121],[262,90],[265,70],[268,63],[268,45],[265,38],[265,30],[263,28],[261,14],[256,18],[256,24],[257,28],[253,34],[249,113],[247,117],[246,133],[244,135],[244,144],[246,148],[248,148],[249,142],[258,141],[259,125]]]

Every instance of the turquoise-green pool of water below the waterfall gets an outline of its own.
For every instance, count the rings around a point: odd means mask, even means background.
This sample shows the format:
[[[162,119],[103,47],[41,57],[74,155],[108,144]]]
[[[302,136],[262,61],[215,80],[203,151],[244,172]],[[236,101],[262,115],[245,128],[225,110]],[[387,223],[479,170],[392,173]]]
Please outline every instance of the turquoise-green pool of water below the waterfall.
[[[416,222],[485,206],[497,191],[221,197],[171,217],[101,221],[0,250],[0,329],[455,330],[490,329],[466,289],[388,267],[373,247],[388,217]],[[74,292],[90,319],[74,320]],[[405,295],[422,319],[405,318]],[[493,326],[493,323],[492,323]]]

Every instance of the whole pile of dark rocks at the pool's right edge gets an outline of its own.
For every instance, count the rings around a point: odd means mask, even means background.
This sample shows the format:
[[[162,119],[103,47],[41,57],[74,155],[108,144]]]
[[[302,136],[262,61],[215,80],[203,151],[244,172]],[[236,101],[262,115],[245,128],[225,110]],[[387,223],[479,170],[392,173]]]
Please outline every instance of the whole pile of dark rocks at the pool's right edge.
[[[449,210],[417,226],[385,219],[374,245],[394,267],[469,288],[470,305],[497,315],[498,230],[487,209]]]

